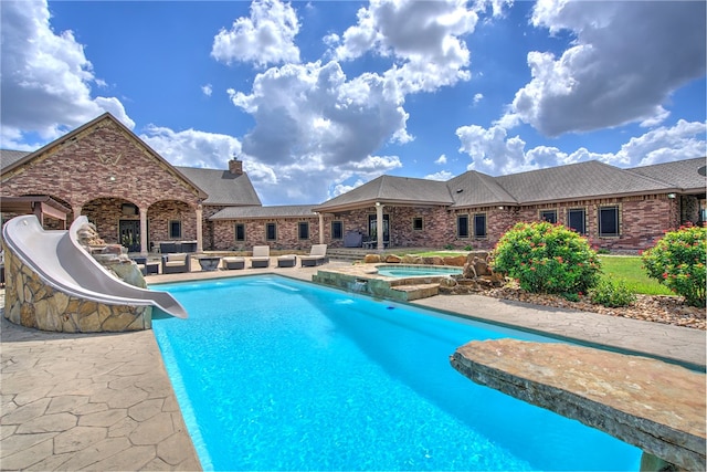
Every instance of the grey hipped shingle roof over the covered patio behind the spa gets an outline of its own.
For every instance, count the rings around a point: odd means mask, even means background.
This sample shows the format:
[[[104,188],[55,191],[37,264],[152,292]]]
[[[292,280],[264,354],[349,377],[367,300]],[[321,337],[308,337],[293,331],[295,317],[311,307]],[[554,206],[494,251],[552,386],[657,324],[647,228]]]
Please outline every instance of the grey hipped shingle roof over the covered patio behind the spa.
[[[380,176],[351,191],[315,207],[317,211],[344,209],[361,203],[452,204],[454,199],[445,182],[410,177]]]

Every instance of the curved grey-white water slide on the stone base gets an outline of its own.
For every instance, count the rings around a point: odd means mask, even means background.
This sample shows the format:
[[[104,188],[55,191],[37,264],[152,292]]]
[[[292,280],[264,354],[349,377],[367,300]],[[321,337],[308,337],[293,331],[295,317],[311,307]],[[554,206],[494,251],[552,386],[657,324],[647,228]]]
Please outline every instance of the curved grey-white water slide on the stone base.
[[[179,318],[187,311],[171,294],[140,289],[116,279],[76,239],[87,223],[78,217],[68,231],[46,231],[33,214],[15,217],[2,229],[6,245],[44,283],[80,298],[108,305],[151,305]]]

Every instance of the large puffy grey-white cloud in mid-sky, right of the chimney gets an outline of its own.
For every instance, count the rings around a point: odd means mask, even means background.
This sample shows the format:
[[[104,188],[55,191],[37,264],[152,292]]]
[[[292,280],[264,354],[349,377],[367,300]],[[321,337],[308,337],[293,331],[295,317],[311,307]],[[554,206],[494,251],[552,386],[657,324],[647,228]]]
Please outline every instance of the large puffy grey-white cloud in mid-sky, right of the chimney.
[[[230,90],[255,119],[244,153],[275,162],[358,162],[390,139],[405,143],[408,114],[383,77],[347,80],[336,62],[287,64],[258,74],[250,94]]]

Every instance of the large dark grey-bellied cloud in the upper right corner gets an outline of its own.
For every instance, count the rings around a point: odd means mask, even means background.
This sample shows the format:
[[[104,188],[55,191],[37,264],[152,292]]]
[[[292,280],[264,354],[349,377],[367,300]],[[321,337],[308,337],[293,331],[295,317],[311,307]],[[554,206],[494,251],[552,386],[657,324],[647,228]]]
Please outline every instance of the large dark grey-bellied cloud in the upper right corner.
[[[532,80],[498,125],[524,122],[547,136],[658,125],[669,95],[705,74],[705,17],[700,1],[538,1],[532,25],[574,40],[559,57],[528,53]]]

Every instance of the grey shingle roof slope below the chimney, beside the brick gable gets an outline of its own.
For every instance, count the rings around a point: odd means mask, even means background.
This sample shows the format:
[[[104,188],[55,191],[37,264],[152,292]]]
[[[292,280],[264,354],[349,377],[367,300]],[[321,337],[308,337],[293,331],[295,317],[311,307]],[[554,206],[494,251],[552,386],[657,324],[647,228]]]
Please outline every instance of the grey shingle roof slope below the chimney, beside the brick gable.
[[[207,204],[262,204],[246,174],[236,176],[229,170],[176,167],[209,196]]]

